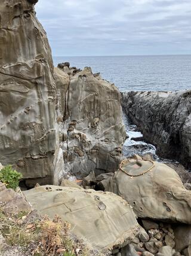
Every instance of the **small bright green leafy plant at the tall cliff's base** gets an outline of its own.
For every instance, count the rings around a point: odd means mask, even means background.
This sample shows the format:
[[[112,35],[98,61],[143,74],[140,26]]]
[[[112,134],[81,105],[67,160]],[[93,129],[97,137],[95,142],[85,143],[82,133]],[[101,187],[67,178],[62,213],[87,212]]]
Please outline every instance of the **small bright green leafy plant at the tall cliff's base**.
[[[21,177],[22,174],[13,170],[11,165],[6,165],[0,171],[0,181],[4,183],[7,188],[13,188],[16,190],[17,186],[19,186]]]

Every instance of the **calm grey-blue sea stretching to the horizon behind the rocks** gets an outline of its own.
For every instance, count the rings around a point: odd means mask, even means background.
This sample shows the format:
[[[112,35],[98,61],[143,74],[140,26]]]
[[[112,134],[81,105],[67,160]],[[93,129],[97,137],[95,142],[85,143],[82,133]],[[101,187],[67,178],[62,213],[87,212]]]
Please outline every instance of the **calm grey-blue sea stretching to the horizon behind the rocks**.
[[[191,55],[54,57],[54,65],[70,62],[115,83],[120,91],[191,89]]]

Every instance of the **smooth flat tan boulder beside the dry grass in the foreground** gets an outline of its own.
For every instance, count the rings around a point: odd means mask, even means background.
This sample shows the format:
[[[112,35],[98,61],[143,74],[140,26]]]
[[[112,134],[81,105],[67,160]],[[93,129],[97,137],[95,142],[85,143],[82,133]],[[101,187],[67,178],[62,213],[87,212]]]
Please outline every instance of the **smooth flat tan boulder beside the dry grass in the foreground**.
[[[130,205],[110,192],[39,186],[24,194],[42,215],[59,215],[72,225],[73,234],[102,252],[130,242],[139,231]]]

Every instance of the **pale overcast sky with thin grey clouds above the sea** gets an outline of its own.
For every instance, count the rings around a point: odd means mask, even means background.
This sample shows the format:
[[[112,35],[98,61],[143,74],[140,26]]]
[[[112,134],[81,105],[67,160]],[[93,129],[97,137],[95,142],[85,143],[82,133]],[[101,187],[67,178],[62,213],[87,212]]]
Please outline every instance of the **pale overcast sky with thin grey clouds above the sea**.
[[[190,0],[39,0],[53,56],[191,54]]]

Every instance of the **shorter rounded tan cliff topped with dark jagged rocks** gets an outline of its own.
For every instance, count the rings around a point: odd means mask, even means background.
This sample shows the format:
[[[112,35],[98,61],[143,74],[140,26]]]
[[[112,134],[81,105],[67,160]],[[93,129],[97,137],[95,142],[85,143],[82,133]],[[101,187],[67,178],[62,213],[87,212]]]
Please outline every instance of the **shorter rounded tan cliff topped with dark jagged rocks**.
[[[91,68],[71,70],[54,69],[65,171],[84,177],[116,171],[126,138],[121,94]]]

